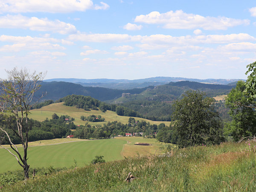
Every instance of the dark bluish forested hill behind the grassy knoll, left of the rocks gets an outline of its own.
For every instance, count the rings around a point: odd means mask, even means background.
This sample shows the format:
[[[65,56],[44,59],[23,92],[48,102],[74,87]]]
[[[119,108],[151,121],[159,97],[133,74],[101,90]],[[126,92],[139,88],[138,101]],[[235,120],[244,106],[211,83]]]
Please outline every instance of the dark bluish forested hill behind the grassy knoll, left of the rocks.
[[[145,88],[136,88],[131,90],[117,90],[117,89],[109,89],[104,87],[84,87],[80,84],[69,83],[69,82],[42,82],[41,89],[36,92],[36,98],[39,98],[42,92],[47,92],[47,95],[44,96],[42,101],[44,100],[58,100],[67,95],[83,95],[83,96],[91,96],[95,99],[99,99],[101,101],[111,100],[122,96],[122,93],[131,93],[131,94],[139,94],[146,90],[147,88],[154,87],[145,87]]]

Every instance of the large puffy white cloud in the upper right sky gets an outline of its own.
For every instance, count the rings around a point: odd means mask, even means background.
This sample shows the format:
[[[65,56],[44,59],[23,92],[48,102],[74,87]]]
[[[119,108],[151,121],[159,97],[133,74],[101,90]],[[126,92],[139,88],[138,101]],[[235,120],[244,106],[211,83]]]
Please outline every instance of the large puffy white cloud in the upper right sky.
[[[151,12],[148,15],[137,16],[134,20],[139,23],[163,24],[166,29],[196,29],[226,30],[228,27],[248,25],[250,20],[240,20],[228,17],[204,17],[201,15],[184,13],[182,10],[160,14]]]

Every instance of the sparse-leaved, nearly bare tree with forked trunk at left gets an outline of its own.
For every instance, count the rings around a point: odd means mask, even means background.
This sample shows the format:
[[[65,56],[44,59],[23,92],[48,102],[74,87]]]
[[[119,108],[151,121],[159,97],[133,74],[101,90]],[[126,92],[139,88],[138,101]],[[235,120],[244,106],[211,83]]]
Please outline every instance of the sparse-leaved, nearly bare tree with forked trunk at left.
[[[44,79],[46,73],[36,73],[35,71],[29,73],[26,68],[18,70],[15,67],[13,70],[6,70],[8,74],[7,79],[0,80],[0,110],[1,117],[7,122],[14,121],[17,126],[11,126],[9,123],[9,130],[20,139],[23,147],[23,157],[17,149],[17,146],[12,142],[8,130],[0,128],[0,140],[5,140],[5,143],[10,145],[7,148],[2,145],[12,154],[18,161],[19,165],[24,169],[25,179],[29,178],[29,165],[27,163],[27,148],[28,148],[28,115],[32,105],[35,105],[43,96],[35,98],[35,92],[41,87],[41,81]]]

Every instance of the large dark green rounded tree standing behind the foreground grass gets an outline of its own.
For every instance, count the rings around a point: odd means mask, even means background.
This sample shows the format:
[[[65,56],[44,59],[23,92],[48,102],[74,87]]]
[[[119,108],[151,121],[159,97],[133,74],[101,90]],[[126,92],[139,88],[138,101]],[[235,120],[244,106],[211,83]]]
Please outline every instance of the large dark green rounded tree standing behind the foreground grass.
[[[179,147],[218,144],[224,139],[222,122],[212,102],[204,93],[188,90],[173,104],[172,117]]]

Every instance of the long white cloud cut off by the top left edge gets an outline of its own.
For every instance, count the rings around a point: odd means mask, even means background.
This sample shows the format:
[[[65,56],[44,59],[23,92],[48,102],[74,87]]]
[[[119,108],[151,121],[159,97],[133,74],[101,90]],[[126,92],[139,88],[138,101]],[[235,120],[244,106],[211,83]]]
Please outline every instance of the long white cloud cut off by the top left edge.
[[[0,3],[0,13],[50,12],[70,13],[84,12],[87,9],[108,9],[106,3],[93,5],[92,0],[4,0]]]

